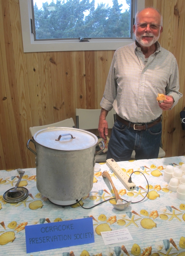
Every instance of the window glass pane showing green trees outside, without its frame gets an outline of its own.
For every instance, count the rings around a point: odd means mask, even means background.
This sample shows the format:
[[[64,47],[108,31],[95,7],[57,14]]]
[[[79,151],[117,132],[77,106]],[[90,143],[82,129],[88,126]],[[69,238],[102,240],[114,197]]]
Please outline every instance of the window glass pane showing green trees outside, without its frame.
[[[31,1],[35,40],[132,38],[131,0]]]

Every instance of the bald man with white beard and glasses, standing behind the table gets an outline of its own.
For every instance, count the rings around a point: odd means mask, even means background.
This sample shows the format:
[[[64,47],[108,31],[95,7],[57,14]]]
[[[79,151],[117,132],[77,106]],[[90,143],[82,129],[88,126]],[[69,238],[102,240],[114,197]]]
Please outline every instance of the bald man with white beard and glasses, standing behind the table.
[[[114,53],[107,78],[99,120],[99,135],[106,140],[106,116],[114,108],[114,123],[107,159],[157,158],[161,141],[162,110],[171,110],[179,92],[178,66],[174,55],[157,41],[162,33],[162,16],[153,8],[138,12],[133,26],[135,42]],[[158,103],[163,93],[166,100]]]

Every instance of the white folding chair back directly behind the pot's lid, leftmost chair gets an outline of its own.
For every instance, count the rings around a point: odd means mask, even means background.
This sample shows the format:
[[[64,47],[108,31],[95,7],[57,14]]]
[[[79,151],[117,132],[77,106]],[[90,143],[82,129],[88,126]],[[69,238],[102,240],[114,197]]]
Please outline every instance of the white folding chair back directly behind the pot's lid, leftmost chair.
[[[65,119],[65,120],[62,120],[60,122],[57,122],[57,123],[51,123],[51,124],[47,124],[47,125],[41,125],[41,126],[34,126],[34,127],[30,127],[30,133],[33,137],[33,135],[42,130],[42,129],[45,129],[47,127],[71,127],[71,128],[75,128],[75,123],[73,121],[73,118],[68,118],[68,119]]]

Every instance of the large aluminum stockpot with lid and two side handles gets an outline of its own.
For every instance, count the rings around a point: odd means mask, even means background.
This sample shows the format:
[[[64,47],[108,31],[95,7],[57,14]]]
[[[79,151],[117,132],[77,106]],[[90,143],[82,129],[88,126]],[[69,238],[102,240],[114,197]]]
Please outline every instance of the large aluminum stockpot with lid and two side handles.
[[[94,134],[75,128],[49,127],[36,132],[27,147],[36,155],[38,191],[53,203],[68,205],[93,188]],[[29,147],[32,142],[36,152]]]

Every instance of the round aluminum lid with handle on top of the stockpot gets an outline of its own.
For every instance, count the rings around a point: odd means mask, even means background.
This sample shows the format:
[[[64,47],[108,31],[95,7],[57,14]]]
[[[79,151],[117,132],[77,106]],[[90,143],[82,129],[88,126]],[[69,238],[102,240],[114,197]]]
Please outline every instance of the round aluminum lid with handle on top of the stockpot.
[[[98,142],[96,135],[68,127],[48,127],[36,132],[33,138],[44,147],[65,151],[86,149],[95,146]]]

